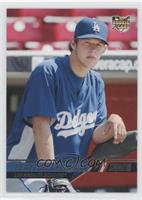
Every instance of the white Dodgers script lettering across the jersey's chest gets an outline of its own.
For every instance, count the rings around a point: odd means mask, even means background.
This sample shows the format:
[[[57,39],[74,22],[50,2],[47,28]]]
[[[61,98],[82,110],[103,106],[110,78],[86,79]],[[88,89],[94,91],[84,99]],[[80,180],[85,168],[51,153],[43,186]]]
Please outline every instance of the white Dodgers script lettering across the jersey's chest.
[[[81,113],[81,110],[78,110],[74,116],[67,111],[59,112],[57,114],[58,123],[55,126],[56,130],[60,130],[57,136],[64,138],[76,134],[83,136],[87,129],[95,126],[96,117],[97,111]]]

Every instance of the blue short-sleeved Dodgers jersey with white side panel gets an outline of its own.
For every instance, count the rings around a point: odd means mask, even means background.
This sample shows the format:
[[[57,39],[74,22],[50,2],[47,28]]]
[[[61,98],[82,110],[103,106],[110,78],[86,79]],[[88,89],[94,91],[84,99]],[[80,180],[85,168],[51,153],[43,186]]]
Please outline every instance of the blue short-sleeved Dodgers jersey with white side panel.
[[[31,118],[47,116],[55,155],[86,156],[93,130],[106,120],[104,83],[90,70],[83,78],[70,67],[69,57],[44,61],[32,72],[8,138],[9,159],[36,159]]]

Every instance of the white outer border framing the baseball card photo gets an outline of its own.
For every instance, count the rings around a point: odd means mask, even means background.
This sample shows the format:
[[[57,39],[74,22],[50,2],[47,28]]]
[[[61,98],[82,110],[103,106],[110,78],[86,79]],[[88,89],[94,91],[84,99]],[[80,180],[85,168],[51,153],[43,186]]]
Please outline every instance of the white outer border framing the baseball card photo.
[[[55,3],[56,2],[56,3]],[[89,3],[90,2],[90,3]],[[0,1],[0,21],[1,21],[1,27],[3,27],[2,31],[0,32],[0,38],[2,43],[0,42],[0,172],[2,174],[0,179],[0,192],[1,196],[4,199],[90,199],[90,200],[123,200],[123,199],[140,199],[142,196],[142,154],[141,154],[141,148],[142,147],[142,123],[140,119],[142,119],[142,108],[141,108],[141,102],[142,102],[142,2],[141,1],[135,1],[131,2],[129,1],[69,1],[68,2],[61,2],[61,1]],[[103,3],[102,3],[103,2]],[[138,8],[138,62],[139,62],[139,68],[138,68],[138,192],[137,193],[78,193],[78,194],[24,194],[24,193],[18,193],[18,194],[8,194],[5,192],[5,173],[6,173],[6,160],[5,160],[5,145],[6,145],[6,9],[7,8],[20,8],[20,7],[34,7],[34,8],[40,8],[40,7],[58,7],[58,8],[67,8],[67,7],[93,7],[95,5],[95,8]],[[22,198],[19,198],[22,197]]]

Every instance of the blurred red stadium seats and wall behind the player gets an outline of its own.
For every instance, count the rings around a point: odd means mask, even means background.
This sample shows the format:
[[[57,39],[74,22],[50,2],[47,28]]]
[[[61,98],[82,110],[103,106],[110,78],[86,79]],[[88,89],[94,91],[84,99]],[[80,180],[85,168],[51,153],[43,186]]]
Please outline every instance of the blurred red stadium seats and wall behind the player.
[[[130,28],[112,28],[112,16],[130,16]],[[7,132],[25,83],[43,59],[68,54],[76,22],[96,17],[109,26],[109,47],[95,67],[105,81],[108,114],[120,114],[128,130],[137,129],[136,9],[7,9]]]

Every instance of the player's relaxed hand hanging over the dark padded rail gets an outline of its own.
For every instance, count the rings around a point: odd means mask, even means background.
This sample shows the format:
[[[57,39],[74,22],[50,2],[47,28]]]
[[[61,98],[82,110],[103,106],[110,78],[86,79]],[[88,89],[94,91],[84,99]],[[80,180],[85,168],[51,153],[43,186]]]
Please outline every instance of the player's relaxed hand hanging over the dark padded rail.
[[[111,114],[105,125],[105,133],[113,135],[113,143],[122,143],[127,135],[125,124],[122,118],[117,114]]]

